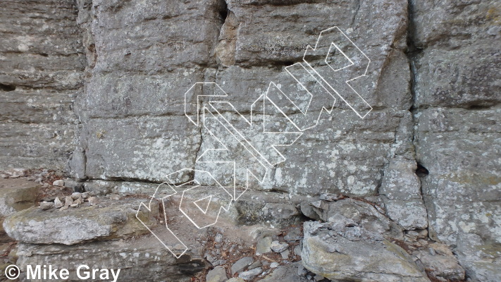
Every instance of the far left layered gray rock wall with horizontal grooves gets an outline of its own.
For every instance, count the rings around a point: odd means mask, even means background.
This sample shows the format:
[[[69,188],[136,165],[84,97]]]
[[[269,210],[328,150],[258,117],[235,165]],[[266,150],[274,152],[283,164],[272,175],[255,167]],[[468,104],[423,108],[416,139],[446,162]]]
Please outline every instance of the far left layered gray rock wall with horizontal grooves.
[[[73,1],[2,1],[0,169],[65,168],[85,52]]]

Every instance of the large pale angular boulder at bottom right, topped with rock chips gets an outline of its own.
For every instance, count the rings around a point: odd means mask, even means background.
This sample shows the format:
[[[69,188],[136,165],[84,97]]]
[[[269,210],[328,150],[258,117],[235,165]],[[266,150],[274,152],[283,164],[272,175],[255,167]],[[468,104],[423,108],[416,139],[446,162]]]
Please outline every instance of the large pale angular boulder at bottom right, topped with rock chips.
[[[401,247],[347,221],[304,223],[304,267],[334,281],[429,281]]]

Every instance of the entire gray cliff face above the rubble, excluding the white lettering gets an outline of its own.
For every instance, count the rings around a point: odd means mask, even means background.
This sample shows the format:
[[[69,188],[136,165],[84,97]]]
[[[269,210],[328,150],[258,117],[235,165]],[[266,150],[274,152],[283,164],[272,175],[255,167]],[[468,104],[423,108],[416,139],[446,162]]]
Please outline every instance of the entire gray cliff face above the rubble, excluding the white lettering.
[[[499,274],[498,1],[2,6],[0,169],[64,170],[87,190],[161,183],[182,168],[216,171],[230,185],[219,164],[197,161],[214,140],[185,116],[185,92],[216,82],[248,114],[271,81],[295,91],[285,67],[301,62],[322,30],[338,26],[371,59],[352,86],[373,110],[361,119],[338,99],[252,192],[364,197],[403,231],[427,229],[452,247],[474,281]]]

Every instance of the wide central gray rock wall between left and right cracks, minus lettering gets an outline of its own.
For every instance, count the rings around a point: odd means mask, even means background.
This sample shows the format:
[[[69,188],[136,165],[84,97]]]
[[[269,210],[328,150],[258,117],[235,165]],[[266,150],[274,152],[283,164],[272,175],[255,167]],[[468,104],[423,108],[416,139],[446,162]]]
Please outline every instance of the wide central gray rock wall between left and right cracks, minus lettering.
[[[217,82],[246,113],[269,82],[290,87],[285,66],[302,61],[307,44],[338,25],[371,58],[368,77],[355,88],[376,109],[362,121],[338,102],[333,114],[324,113],[316,128],[283,150],[287,160],[255,189],[377,193],[397,130],[410,126],[401,125],[410,121],[412,99],[406,2],[158,5],[166,6],[94,1],[80,10],[95,54],[81,104],[86,162],[73,164],[75,176],[85,167],[88,178],[162,181],[181,168],[216,170],[215,164],[195,164],[210,138],[184,116],[183,94],[194,82]]]

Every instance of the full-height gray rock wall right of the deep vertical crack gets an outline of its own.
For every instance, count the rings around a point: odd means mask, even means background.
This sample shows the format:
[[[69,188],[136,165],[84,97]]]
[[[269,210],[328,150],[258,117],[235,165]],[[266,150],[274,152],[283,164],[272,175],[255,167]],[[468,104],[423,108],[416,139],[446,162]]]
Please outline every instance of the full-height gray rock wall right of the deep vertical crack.
[[[479,273],[498,268],[487,252],[501,243],[501,6],[411,1],[411,8],[414,144],[430,173],[421,181],[430,235],[463,250],[472,277],[493,281]],[[468,259],[471,249],[481,251]]]

